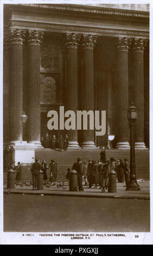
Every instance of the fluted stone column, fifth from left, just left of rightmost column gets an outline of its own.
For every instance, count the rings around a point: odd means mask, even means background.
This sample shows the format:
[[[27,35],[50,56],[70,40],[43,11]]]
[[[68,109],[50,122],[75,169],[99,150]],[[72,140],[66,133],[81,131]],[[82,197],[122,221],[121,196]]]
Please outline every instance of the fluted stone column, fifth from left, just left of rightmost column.
[[[128,51],[130,38],[118,38],[118,122],[116,148],[130,148],[129,121],[129,80],[128,80]]]

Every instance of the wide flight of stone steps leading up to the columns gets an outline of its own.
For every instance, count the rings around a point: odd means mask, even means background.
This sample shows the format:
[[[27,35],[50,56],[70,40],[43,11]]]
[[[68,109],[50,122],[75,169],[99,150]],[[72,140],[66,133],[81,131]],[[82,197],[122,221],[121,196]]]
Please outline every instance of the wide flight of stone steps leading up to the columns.
[[[47,164],[53,159],[58,164],[58,181],[66,181],[67,168],[72,168],[73,163],[76,162],[78,157],[82,158],[82,162],[88,162],[88,160],[99,160],[100,149],[74,149],[63,151],[52,149],[37,149],[35,151],[35,157],[40,161],[46,160]],[[119,149],[106,149],[106,159],[128,159],[130,162],[130,150]],[[49,180],[49,172],[47,169],[47,176]],[[149,150],[136,150],[136,177],[137,179],[149,180]],[[22,166],[22,181],[29,182],[32,180],[30,168],[27,165]],[[4,182],[7,182],[7,171],[4,170]]]

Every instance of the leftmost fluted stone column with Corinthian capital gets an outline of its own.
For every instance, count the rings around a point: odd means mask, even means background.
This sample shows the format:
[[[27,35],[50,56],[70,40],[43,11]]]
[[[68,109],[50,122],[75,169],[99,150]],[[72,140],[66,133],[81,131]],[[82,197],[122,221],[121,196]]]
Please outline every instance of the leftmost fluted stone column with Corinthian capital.
[[[10,86],[10,143],[22,141],[23,105],[23,41],[25,31],[10,28],[11,86]]]

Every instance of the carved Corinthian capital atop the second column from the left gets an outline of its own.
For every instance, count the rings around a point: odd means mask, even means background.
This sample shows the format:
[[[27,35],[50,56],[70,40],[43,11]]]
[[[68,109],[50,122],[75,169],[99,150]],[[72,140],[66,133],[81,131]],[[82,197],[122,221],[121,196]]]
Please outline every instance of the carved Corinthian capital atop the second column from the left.
[[[42,40],[43,40],[43,35],[44,32],[43,31],[37,31],[35,30],[29,30],[28,29],[28,43],[29,45],[41,45]]]

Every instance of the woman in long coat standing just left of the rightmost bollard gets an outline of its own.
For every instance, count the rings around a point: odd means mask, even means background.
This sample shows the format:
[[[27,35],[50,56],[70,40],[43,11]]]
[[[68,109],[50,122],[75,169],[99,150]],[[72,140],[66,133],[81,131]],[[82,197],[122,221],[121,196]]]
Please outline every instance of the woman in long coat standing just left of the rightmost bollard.
[[[105,188],[107,189],[109,187],[109,176],[110,176],[110,165],[109,165],[109,161],[105,161],[104,166],[103,166],[103,178],[101,181],[101,186],[102,186],[102,190],[101,192],[105,192]]]

